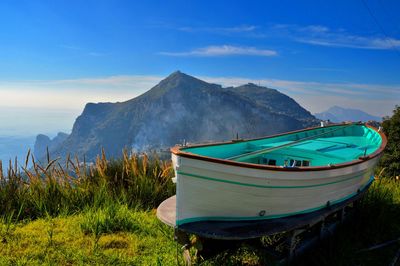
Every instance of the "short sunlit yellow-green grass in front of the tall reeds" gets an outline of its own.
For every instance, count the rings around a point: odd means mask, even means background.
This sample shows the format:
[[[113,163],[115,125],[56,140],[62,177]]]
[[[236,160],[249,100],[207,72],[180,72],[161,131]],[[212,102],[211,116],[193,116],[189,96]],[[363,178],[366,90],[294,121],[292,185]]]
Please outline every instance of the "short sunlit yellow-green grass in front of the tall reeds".
[[[53,218],[52,224],[46,218],[18,223],[9,241],[0,243],[0,264],[176,265],[176,244],[170,228],[158,222],[151,211],[122,212],[134,218],[134,227],[118,227],[113,232],[107,228],[97,243],[88,233],[96,224],[87,220],[92,213],[59,216]],[[43,230],[49,226],[53,228],[52,244]]]

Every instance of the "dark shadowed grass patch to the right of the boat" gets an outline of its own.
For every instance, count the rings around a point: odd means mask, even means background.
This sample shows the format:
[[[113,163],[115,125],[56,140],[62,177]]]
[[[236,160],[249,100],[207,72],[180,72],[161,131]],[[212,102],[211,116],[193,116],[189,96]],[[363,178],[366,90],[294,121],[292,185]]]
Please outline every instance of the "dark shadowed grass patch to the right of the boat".
[[[298,264],[389,265],[400,242],[376,250],[365,249],[400,238],[399,217],[400,182],[388,178],[376,180],[354,219]]]

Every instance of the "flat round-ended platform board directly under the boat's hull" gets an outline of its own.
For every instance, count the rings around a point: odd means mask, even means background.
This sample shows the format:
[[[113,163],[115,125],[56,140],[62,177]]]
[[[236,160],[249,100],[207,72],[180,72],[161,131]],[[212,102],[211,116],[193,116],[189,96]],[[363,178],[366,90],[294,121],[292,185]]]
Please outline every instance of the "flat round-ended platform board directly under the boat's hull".
[[[195,234],[204,238],[243,240],[272,235],[283,231],[292,231],[308,227],[325,219],[329,215],[344,209],[349,204],[360,199],[369,185],[352,198],[338,204],[327,206],[324,209],[301,215],[285,218],[257,220],[257,221],[203,221],[180,225],[177,228],[188,234]],[[157,217],[163,223],[176,228],[176,196],[163,201],[157,209]]]

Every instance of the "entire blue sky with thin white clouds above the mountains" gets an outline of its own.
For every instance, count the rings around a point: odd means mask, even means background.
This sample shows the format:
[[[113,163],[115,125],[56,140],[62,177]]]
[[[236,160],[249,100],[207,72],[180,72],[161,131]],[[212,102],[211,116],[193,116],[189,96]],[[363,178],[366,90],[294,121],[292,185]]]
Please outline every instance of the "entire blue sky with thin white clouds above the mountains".
[[[176,70],[276,88],[312,113],[390,115],[399,12],[395,0],[0,1],[0,135],[68,132],[85,103],[128,100]]]

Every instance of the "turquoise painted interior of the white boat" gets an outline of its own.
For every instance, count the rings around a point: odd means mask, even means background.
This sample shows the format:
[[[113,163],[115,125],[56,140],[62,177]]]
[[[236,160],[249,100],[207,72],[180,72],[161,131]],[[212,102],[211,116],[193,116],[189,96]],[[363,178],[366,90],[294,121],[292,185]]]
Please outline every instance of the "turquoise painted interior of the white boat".
[[[364,124],[342,124],[275,137],[184,147],[196,155],[244,163],[311,167],[347,163],[379,149],[381,135]]]

